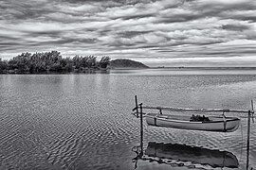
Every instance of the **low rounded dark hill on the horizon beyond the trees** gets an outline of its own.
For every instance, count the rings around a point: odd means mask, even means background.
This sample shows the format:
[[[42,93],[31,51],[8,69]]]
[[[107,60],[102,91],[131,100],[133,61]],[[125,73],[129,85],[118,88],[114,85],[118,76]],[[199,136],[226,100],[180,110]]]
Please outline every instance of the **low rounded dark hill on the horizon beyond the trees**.
[[[132,59],[115,59],[110,61],[110,68],[149,68],[147,65]]]

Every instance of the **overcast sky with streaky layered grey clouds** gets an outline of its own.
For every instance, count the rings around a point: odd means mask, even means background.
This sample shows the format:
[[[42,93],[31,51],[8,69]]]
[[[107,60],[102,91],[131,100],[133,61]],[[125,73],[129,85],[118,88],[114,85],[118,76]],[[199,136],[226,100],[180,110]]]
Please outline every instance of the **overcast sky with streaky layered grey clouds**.
[[[0,58],[51,50],[149,66],[256,66],[256,0],[0,0]]]

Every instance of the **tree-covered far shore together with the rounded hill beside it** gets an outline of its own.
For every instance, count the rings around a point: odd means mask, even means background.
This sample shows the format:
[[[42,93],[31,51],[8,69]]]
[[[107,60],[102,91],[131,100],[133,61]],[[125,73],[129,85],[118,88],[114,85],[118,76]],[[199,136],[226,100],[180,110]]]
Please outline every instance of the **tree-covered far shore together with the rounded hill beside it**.
[[[110,69],[148,68],[131,59],[114,59],[104,56],[75,56],[63,58],[58,51],[45,53],[22,53],[12,59],[0,58],[0,74],[65,74],[65,73],[109,73]]]

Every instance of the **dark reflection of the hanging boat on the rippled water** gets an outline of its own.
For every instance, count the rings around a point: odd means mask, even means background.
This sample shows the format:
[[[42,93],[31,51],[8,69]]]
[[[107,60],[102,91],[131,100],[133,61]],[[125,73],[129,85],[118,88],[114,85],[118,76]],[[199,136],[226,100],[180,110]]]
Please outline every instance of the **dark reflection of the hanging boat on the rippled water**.
[[[212,150],[186,144],[150,142],[143,157],[140,150],[135,152],[137,153],[137,157],[133,159],[136,162],[135,168],[137,168],[137,160],[156,161],[158,163],[175,164],[178,166],[184,166],[183,162],[191,161],[192,164],[210,165],[212,168],[238,168],[239,165],[236,156],[228,151]]]

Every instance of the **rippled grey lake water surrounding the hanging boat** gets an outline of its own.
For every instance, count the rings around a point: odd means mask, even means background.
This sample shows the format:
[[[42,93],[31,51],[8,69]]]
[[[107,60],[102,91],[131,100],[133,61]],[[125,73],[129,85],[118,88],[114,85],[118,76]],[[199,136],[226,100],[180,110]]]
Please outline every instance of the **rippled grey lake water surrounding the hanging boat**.
[[[0,169],[134,169],[135,94],[150,106],[248,110],[251,99],[256,105],[256,71],[0,75]],[[230,133],[144,129],[139,170],[246,169],[246,118]],[[256,124],[250,135],[249,167],[256,169]]]

